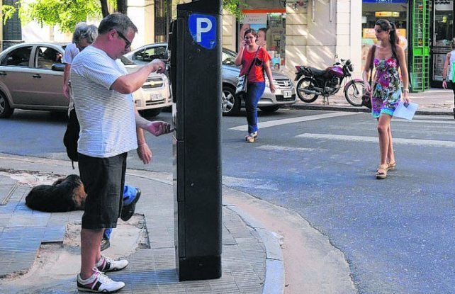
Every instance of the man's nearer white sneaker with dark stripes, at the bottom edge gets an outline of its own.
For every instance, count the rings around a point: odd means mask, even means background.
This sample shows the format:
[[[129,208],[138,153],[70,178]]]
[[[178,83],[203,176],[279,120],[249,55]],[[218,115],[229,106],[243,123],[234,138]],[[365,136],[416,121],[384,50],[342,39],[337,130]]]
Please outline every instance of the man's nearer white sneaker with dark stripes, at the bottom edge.
[[[89,278],[82,280],[80,274],[77,274],[77,290],[95,293],[115,293],[125,287],[125,283],[112,281],[111,278],[104,275],[96,268],[95,273]]]

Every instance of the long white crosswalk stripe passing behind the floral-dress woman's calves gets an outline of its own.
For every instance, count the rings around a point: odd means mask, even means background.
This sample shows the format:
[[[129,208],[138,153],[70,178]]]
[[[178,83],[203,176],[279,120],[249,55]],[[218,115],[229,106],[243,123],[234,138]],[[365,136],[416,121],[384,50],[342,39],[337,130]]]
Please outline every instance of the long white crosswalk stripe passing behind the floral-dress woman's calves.
[[[303,133],[296,135],[299,138],[308,139],[324,139],[324,140],[338,140],[350,142],[378,142],[378,137],[363,137],[363,136],[350,136],[350,135],[330,135],[330,134],[310,134]],[[393,144],[406,144],[416,146],[432,146],[432,147],[455,147],[454,141],[441,141],[441,140],[420,140],[420,139],[405,139],[393,138]]]

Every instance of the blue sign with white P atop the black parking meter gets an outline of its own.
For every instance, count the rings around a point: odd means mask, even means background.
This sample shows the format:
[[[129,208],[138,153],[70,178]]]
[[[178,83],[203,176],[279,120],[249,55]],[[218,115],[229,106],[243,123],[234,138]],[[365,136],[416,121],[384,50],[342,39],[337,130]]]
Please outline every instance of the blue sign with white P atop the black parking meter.
[[[193,40],[207,49],[216,46],[216,19],[206,14],[191,14],[188,19],[189,31]]]

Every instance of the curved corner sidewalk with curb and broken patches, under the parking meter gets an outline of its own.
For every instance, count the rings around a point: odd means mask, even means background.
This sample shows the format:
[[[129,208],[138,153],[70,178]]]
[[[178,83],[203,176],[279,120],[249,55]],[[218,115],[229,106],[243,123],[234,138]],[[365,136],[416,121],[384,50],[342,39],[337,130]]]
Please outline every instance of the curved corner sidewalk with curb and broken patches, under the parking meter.
[[[80,249],[72,242],[79,233],[69,228],[80,230],[82,211],[41,213],[25,204],[32,186],[68,174],[78,174],[69,161],[0,154],[0,293],[77,293]],[[172,175],[128,169],[126,180],[142,196],[133,218],[119,220],[111,248],[103,251],[130,261],[125,270],[108,273],[125,282],[120,293],[356,293],[344,255],[327,237],[296,213],[226,187],[223,276],[179,282]],[[297,276],[286,280],[286,291],[283,242],[286,271]]]

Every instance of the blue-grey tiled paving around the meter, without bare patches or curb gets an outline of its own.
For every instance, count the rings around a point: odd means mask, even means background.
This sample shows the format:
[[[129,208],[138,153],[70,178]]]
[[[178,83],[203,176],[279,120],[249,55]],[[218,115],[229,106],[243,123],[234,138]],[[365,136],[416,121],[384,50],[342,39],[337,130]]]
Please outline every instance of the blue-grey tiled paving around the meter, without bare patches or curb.
[[[0,184],[1,180],[0,177]],[[144,179],[137,180],[137,186],[141,186],[139,183],[143,185],[143,181]],[[164,186],[162,183],[157,185]],[[213,280],[179,281],[174,248],[172,188],[156,188],[157,185],[150,184],[148,186],[152,188],[142,189],[143,194],[136,210],[136,213],[145,216],[150,249],[137,249],[128,257],[128,268],[108,273],[115,281],[125,282],[126,286],[121,292],[262,293],[266,265],[264,245],[257,232],[245,225],[237,213],[226,207],[222,210],[223,276]],[[169,197],[156,197],[157,191],[164,190],[169,190]],[[30,210],[25,205],[28,191],[30,186],[18,186],[8,205],[0,207],[0,276],[1,270],[28,270],[41,242],[61,242],[67,223],[80,223],[82,218],[82,211],[42,213]],[[11,225],[16,227],[9,227]],[[45,286],[38,293],[77,293],[75,288],[76,283],[72,278],[71,281],[58,281],[52,288]]]

